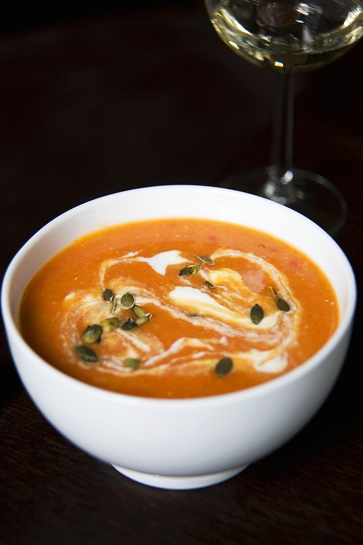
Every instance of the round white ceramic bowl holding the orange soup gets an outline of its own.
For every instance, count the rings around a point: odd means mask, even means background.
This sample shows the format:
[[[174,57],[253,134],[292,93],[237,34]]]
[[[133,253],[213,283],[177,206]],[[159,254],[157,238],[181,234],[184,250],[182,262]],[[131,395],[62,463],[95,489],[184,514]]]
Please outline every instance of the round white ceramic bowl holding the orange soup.
[[[221,396],[152,399],[84,384],[24,342],[17,310],[35,271],[94,229],[139,219],[201,217],[266,231],[310,256],[327,274],[340,325],[312,358],[260,386]],[[239,473],[302,429],[329,395],[347,352],[356,301],[352,268],[315,223],[267,199],[206,186],[124,191],[57,217],[17,253],[5,274],[2,312],[15,365],[29,395],[70,441],[121,473],[161,488],[197,488]]]

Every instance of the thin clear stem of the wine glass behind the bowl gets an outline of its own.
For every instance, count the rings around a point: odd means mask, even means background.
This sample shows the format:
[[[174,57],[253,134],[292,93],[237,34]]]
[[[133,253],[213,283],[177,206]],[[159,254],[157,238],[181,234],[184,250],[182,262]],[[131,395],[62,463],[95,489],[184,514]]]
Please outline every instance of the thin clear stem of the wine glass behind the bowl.
[[[292,184],[293,75],[278,72],[276,77],[269,179],[263,192],[266,197],[287,204],[296,198]]]

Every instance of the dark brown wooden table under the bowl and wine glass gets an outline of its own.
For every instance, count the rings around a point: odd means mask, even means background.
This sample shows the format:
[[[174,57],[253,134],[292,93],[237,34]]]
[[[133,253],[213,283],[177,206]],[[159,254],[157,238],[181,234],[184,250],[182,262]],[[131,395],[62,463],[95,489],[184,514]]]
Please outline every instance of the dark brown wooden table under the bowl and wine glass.
[[[227,49],[201,2],[86,15],[0,34],[2,274],[34,232],[79,203],[132,187],[218,185],[268,163],[274,74]],[[336,240],[359,288],[362,53],[360,43],[297,77],[294,131],[296,166],[347,199]],[[170,491],[61,437],[2,335],[0,543],[363,542],[360,336],[356,325],[331,396],[297,437],[229,481]]]

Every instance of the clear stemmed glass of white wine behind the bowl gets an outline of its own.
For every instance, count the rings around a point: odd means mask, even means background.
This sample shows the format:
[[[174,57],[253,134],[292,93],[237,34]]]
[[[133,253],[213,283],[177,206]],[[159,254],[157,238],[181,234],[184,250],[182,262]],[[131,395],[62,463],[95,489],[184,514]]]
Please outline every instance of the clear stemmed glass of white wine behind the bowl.
[[[270,165],[232,174],[220,185],[285,204],[331,235],[347,204],[327,179],[294,168],[293,73],[321,68],[362,37],[363,0],[205,0],[219,37],[235,53],[277,72]]]

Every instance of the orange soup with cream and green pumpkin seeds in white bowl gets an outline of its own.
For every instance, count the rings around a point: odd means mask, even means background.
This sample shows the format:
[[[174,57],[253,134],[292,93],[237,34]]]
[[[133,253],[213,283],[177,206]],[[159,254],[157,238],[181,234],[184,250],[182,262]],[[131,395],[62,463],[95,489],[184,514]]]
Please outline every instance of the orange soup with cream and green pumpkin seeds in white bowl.
[[[85,383],[160,398],[266,382],[312,356],[339,308],[310,258],[231,223],[164,219],[75,240],[30,281],[24,338]]]

